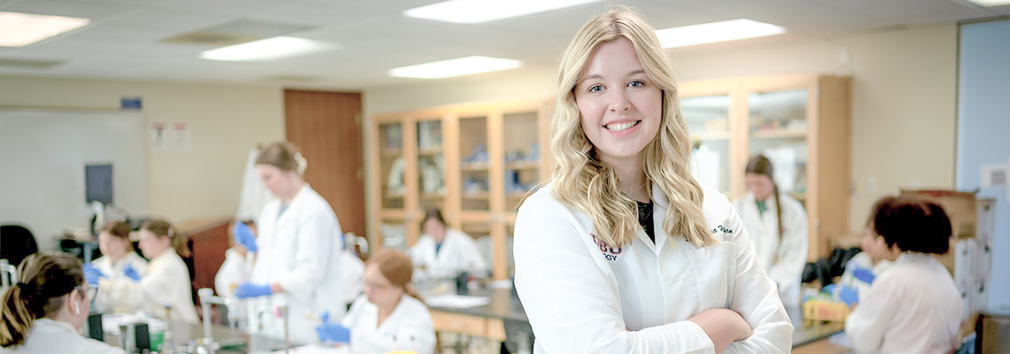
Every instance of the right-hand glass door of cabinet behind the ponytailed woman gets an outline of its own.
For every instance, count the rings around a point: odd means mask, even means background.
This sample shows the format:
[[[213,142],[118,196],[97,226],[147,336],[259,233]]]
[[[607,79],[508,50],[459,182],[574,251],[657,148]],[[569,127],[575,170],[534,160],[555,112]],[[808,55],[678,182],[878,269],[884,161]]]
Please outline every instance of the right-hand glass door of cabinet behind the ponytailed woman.
[[[748,145],[750,155],[772,161],[779,191],[800,202],[807,192],[807,90],[750,93]]]

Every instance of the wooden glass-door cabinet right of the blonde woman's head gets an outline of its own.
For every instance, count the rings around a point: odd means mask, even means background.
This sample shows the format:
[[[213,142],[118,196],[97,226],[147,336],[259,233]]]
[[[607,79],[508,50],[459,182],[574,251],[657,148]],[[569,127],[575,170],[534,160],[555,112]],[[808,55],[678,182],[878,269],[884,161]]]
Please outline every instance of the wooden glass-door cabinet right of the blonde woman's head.
[[[747,160],[768,156],[780,190],[806,207],[811,260],[828,255],[830,237],[848,233],[850,82],[791,75],[679,85],[699,182],[739,197]]]

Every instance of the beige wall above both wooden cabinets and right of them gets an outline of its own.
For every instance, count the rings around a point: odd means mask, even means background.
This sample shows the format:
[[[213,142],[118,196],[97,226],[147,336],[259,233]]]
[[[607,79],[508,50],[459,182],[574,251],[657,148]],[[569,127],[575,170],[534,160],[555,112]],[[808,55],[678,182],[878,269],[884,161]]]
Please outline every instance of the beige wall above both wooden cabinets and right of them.
[[[937,23],[792,44],[675,51],[673,61],[680,81],[799,73],[852,76],[855,189],[850,229],[860,231],[873,203],[884,195],[895,195],[900,188],[953,188],[956,33],[956,24]],[[450,103],[544,98],[554,94],[554,77],[545,71],[371,89],[365,92],[364,109],[368,116]]]

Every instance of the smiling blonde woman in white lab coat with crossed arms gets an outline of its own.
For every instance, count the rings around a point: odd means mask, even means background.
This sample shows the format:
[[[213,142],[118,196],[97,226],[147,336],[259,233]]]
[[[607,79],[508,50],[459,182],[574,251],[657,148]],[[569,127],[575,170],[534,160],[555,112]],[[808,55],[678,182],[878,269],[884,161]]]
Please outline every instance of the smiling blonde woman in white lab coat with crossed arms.
[[[534,353],[786,353],[793,326],[691,138],[652,26],[616,7],[561,61],[552,181],[519,208]]]

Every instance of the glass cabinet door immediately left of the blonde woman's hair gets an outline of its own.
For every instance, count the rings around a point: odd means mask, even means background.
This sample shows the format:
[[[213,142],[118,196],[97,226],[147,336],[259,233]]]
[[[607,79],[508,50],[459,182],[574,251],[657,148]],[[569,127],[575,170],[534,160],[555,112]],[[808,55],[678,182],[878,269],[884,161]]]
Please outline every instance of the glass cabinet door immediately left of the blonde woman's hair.
[[[503,116],[505,154],[505,211],[515,212],[522,198],[540,182],[537,112]]]

